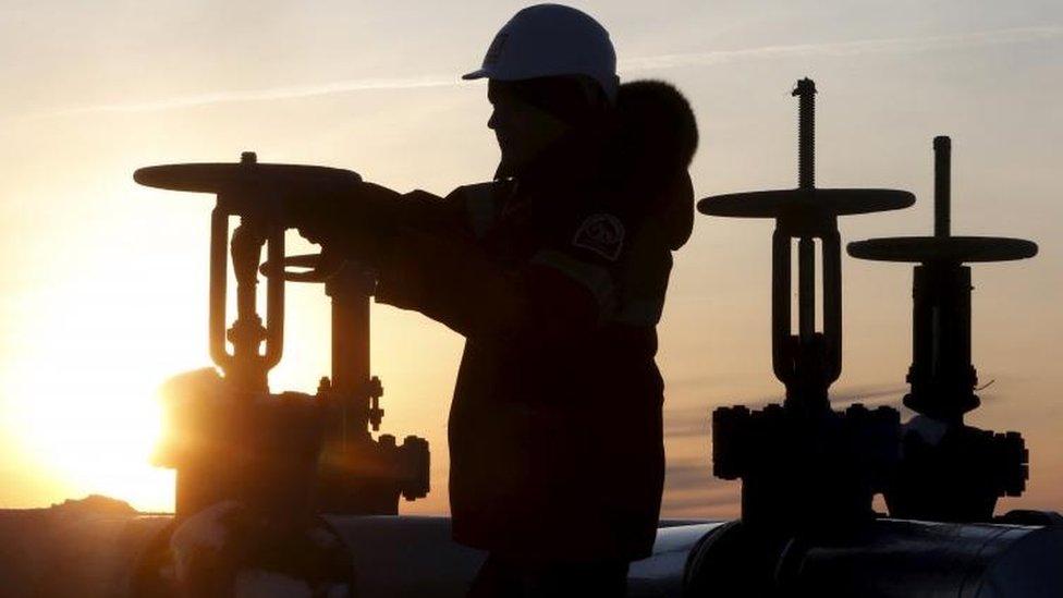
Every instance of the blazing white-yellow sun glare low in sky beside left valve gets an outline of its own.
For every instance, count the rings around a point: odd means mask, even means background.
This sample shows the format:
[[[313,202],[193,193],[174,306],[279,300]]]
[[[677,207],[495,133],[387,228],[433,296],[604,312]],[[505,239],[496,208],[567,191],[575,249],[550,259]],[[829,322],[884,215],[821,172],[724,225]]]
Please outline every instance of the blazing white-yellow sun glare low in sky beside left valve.
[[[4,391],[13,399],[12,431],[33,462],[24,465],[69,489],[51,502],[100,493],[144,511],[172,510],[173,473],[149,464],[161,428],[157,391],[201,359],[173,342],[187,330],[160,334],[144,325],[161,319],[158,306],[137,307],[123,295],[129,281],[86,282],[52,291],[35,321],[23,322],[35,327],[33,340],[9,368]]]

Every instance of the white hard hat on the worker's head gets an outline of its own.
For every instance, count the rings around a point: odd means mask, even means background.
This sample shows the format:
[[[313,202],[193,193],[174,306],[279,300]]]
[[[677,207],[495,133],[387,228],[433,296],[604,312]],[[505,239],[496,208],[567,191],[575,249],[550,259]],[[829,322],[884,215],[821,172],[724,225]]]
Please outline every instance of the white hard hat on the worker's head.
[[[610,101],[616,98],[616,52],[609,32],[587,13],[561,4],[523,9],[502,26],[484,57],[484,65],[462,78],[521,81],[585,75]]]

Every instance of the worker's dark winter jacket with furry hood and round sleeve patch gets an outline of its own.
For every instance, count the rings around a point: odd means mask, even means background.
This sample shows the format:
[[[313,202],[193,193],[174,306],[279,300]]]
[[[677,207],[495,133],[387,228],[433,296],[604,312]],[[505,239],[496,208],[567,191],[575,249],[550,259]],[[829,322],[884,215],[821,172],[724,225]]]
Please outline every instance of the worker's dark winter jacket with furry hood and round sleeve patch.
[[[377,301],[466,338],[449,420],[454,538],[522,559],[634,560],[658,525],[655,326],[689,236],[694,118],[622,86],[513,180],[406,197]]]

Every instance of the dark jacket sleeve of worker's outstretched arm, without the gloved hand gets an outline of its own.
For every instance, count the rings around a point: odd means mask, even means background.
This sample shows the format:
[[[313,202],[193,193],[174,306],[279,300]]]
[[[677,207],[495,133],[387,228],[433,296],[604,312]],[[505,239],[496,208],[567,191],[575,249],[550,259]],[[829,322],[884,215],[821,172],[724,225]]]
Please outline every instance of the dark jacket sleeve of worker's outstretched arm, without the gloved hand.
[[[567,232],[527,263],[505,265],[472,234],[404,230],[380,264],[377,301],[469,338],[579,338],[615,304],[620,244],[618,255],[597,255],[574,246]]]

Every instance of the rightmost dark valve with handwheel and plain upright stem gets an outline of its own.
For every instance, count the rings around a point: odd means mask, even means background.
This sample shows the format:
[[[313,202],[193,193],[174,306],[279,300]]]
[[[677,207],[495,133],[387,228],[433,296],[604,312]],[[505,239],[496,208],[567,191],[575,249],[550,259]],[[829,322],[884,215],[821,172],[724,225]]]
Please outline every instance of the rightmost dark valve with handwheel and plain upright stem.
[[[920,414],[904,435],[904,457],[885,492],[890,514],[974,522],[992,518],[999,497],[1017,497],[1029,475],[1023,437],[964,425],[979,404],[970,361],[970,267],[1037,254],[1019,239],[951,236],[952,142],[934,149],[933,236],[873,239],[848,245],[853,257],[916,263],[913,285],[912,391],[904,404]]]

